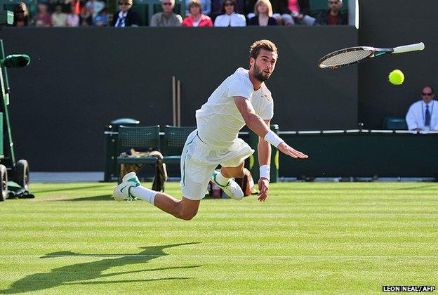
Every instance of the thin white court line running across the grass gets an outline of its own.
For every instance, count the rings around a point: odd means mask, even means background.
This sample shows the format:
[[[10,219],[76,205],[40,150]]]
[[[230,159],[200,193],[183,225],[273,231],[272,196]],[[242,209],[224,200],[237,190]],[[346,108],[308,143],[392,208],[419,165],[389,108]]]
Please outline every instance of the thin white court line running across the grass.
[[[65,255],[0,255],[0,258],[59,258],[59,257],[79,257],[79,258],[89,258],[89,257],[97,257],[97,258],[118,258],[118,257],[180,257],[180,258],[272,258],[272,259],[297,259],[297,258],[338,258],[338,259],[349,259],[349,258],[357,258],[357,259],[391,259],[391,258],[434,258],[437,259],[438,256],[349,256],[349,255],[325,255],[325,256],[312,256],[312,255],[174,255],[174,254],[162,254],[162,255],[143,255],[143,254],[65,254]]]

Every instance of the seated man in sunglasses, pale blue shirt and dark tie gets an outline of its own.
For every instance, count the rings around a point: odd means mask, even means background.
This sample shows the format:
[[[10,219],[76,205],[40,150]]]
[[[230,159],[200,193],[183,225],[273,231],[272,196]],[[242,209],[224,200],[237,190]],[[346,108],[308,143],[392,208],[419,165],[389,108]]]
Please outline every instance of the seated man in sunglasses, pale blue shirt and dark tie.
[[[438,130],[438,101],[434,100],[434,89],[431,86],[425,86],[421,96],[423,100],[413,103],[406,114],[408,129]]]

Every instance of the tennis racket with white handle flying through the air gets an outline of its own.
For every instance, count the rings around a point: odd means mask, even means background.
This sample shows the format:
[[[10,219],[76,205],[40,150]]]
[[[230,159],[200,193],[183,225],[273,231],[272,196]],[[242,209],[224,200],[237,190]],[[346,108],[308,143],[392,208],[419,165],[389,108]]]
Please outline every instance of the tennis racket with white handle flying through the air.
[[[423,42],[395,48],[374,48],[367,46],[344,48],[324,55],[319,60],[318,67],[323,69],[338,69],[339,67],[346,67],[347,65],[352,65],[354,63],[361,63],[364,60],[376,58],[386,54],[421,51],[424,48],[425,45]]]

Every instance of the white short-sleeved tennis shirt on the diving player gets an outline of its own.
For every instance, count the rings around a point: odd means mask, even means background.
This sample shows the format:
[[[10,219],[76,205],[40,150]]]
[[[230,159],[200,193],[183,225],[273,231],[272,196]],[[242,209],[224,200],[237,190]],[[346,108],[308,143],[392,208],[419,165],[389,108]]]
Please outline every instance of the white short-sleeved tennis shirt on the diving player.
[[[239,67],[213,92],[207,102],[196,111],[199,138],[214,148],[230,147],[245,126],[244,118],[234,103],[234,96],[248,99],[255,113],[264,120],[274,116],[274,101],[271,91],[262,83],[255,91],[248,70]]]

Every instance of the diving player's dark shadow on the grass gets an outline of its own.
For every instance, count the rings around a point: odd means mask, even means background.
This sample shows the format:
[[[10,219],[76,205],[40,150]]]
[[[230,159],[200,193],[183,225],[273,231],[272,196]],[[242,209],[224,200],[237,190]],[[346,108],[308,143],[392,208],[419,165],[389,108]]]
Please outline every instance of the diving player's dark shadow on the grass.
[[[123,283],[123,282],[151,282],[154,280],[189,280],[190,277],[161,277],[157,279],[139,279],[139,280],[111,280],[111,281],[93,281],[93,282],[77,282],[84,280],[96,280],[105,279],[107,277],[114,277],[116,275],[126,275],[133,273],[142,273],[146,271],[157,271],[157,270],[169,270],[178,268],[198,268],[202,265],[185,265],[185,266],[174,266],[169,268],[153,268],[144,270],[131,270],[122,271],[117,273],[106,273],[105,270],[115,267],[121,267],[124,265],[147,263],[154,258],[159,258],[162,256],[167,256],[164,253],[164,249],[177,247],[187,244],[198,244],[197,242],[183,243],[183,244],[168,244],[164,246],[152,246],[152,247],[142,247],[144,249],[140,253],[136,254],[77,254],[71,251],[62,251],[46,254],[40,258],[62,258],[62,257],[109,257],[100,261],[76,263],[72,265],[61,266],[60,268],[53,268],[49,273],[34,273],[32,275],[27,275],[22,279],[13,282],[11,287],[8,289],[0,290],[0,294],[13,294],[22,292],[34,292],[41,291],[44,289],[49,289],[53,287],[58,287],[61,285],[69,284],[108,284],[108,283]],[[117,257],[114,257],[117,256]],[[78,257],[79,258],[79,257]],[[105,272],[105,273],[104,273]],[[186,272],[185,272],[186,273]]]

